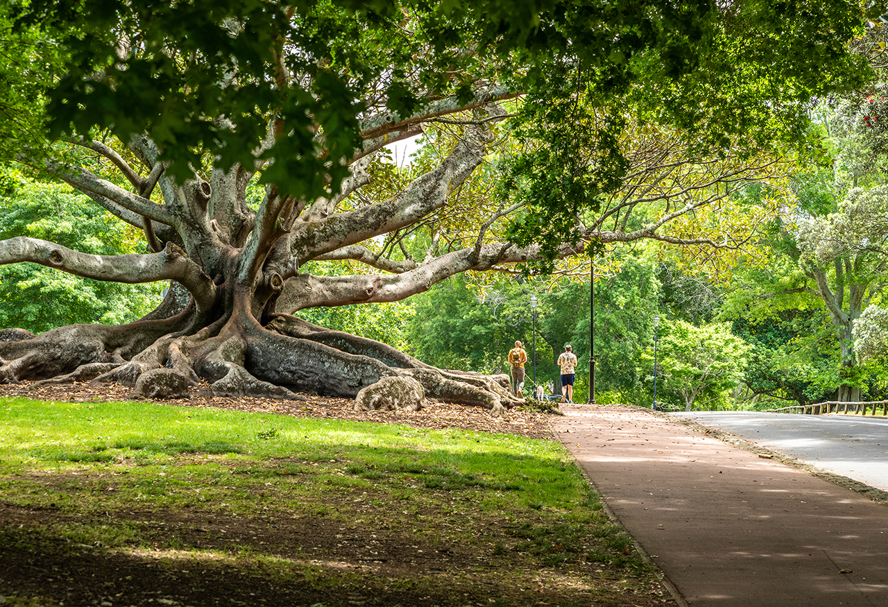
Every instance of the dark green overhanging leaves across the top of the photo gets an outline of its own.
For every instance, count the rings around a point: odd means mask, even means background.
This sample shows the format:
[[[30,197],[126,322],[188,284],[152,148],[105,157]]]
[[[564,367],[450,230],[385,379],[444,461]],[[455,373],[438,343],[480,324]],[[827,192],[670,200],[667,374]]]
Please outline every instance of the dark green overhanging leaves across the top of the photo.
[[[552,144],[547,158],[540,149],[528,156],[555,171],[532,188],[549,190],[539,201],[549,213],[577,193],[572,204],[594,206],[621,176],[618,99],[630,98],[648,120],[703,134],[702,145],[737,134],[765,144],[778,131],[796,136],[805,103],[825,86],[866,74],[844,49],[859,12],[837,0],[804,10],[710,0],[36,0],[14,5],[9,20],[65,51],[46,91],[53,137],[99,128],[127,141],[147,132],[173,162],[170,174],[184,179],[202,154],[223,168],[248,164],[276,120],[282,130],[262,152],[274,160],[264,178],[307,197],[337,189],[371,104],[406,115],[421,99],[465,101],[473,81],[496,79],[530,93],[523,122]],[[285,46],[301,52],[281,63],[274,50]],[[299,77],[285,83],[287,75]],[[611,106],[607,128],[581,119],[588,106]],[[517,174],[526,166],[518,162]]]

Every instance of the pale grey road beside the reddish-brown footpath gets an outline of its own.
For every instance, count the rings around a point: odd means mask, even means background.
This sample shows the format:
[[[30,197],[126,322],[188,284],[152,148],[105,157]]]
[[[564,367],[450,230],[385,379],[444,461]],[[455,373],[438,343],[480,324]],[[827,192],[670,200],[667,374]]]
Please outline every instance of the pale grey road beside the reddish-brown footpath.
[[[731,432],[818,468],[888,491],[888,419],[752,411],[673,415]]]

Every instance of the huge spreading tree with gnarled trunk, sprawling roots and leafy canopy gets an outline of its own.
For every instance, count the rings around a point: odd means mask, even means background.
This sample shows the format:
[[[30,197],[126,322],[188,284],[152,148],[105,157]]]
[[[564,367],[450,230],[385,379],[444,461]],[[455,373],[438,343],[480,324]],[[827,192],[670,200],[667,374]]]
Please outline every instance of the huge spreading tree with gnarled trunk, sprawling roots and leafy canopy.
[[[0,151],[139,226],[148,252],[85,255],[17,236],[0,241],[0,264],[173,288],[127,325],[4,331],[0,382],[203,378],[287,398],[412,376],[432,398],[501,410],[514,400],[496,378],[293,314],[398,301],[596,240],[736,246],[694,222],[663,226],[780,172],[766,154],[797,136],[807,100],[863,69],[845,47],[859,9],[841,0],[35,0],[2,11],[3,51],[19,60],[0,72],[14,110]],[[434,165],[386,180],[385,146],[433,126]],[[472,179],[505,187],[472,200]],[[309,261],[361,269],[313,274]]]

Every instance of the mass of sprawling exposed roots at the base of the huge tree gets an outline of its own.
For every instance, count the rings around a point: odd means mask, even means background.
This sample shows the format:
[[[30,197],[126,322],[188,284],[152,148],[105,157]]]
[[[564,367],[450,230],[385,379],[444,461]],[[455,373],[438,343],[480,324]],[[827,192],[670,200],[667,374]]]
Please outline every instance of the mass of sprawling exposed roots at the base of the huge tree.
[[[91,382],[134,387],[133,398],[181,398],[202,379],[219,396],[302,400],[297,391],[355,398],[385,378],[410,386],[409,397],[384,393],[386,381],[361,399],[371,408],[416,409],[425,398],[483,406],[504,417],[522,404],[506,375],[482,375],[430,367],[385,343],[329,331],[304,320],[275,315],[269,326],[229,322],[213,336],[160,334],[162,322],[126,327],[77,325],[31,337],[5,331],[0,341],[0,383],[38,380],[39,385]],[[139,333],[145,329],[147,333]],[[150,330],[149,330],[150,329]],[[130,359],[123,354],[141,344]],[[400,382],[397,379],[400,378]],[[410,379],[411,382],[403,380]],[[416,383],[418,382],[418,383]],[[384,390],[385,388],[385,390]],[[390,390],[388,390],[390,391]],[[421,394],[420,394],[421,392]],[[396,404],[396,403],[406,404]]]

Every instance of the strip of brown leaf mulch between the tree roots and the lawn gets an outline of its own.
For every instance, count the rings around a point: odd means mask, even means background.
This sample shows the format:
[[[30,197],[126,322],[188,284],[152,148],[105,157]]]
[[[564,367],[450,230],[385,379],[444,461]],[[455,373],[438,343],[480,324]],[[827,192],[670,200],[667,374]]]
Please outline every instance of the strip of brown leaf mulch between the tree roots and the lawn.
[[[56,400],[67,403],[80,403],[104,400],[129,400],[131,388],[118,384],[91,386],[88,383],[75,383],[59,386],[44,386],[34,389],[28,383],[0,384],[0,396]],[[528,438],[553,438],[549,428],[550,414],[531,411],[519,407],[509,411],[508,419],[497,419],[487,409],[480,406],[462,406],[427,401],[426,406],[413,412],[364,412],[353,409],[353,398],[328,398],[315,395],[301,395],[307,400],[277,400],[274,398],[218,397],[209,394],[206,388],[192,388],[189,398],[164,400],[164,403],[178,406],[218,407],[248,413],[273,413],[293,417],[333,417],[354,422],[403,423],[416,428],[441,430],[461,428],[518,434]]]

